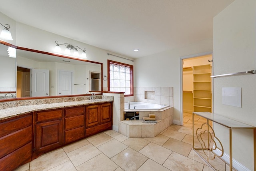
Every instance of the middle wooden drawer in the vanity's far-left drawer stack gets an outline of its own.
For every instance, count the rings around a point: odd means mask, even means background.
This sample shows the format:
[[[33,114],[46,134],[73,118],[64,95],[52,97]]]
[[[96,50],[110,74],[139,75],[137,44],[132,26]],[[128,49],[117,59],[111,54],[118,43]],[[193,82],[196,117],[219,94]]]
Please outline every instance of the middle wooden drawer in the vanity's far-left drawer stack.
[[[32,141],[32,126],[0,138],[0,158]]]

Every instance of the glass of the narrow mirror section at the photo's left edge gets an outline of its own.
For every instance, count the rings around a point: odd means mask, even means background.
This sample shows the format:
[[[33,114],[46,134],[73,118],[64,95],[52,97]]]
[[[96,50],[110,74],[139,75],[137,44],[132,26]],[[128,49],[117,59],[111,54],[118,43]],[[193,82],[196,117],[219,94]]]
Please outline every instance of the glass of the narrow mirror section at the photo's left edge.
[[[8,48],[0,44],[0,99],[16,97],[16,58],[9,56]]]

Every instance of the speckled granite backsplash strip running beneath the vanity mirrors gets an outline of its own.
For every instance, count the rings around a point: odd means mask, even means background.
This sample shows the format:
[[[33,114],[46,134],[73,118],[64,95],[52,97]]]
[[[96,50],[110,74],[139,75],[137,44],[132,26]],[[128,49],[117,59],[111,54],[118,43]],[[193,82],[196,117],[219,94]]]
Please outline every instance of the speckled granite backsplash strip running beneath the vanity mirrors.
[[[95,99],[112,98],[111,96],[96,95]],[[8,101],[0,103],[0,109],[6,109],[9,107],[25,106],[25,105],[40,105],[49,103],[61,103],[68,101],[81,101],[89,100],[90,96],[77,96],[77,97],[63,97],[63,98],[51,98],[51,99],[32,99],[32,100],[19,100],[19,101]]]

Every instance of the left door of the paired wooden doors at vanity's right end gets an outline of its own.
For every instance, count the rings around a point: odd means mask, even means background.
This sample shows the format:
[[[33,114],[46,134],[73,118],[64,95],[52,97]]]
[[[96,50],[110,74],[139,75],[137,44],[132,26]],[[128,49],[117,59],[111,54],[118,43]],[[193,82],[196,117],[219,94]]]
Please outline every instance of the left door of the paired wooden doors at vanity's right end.
[[[86,106],[85,127],[91,127],[100,123],[100,105]]]

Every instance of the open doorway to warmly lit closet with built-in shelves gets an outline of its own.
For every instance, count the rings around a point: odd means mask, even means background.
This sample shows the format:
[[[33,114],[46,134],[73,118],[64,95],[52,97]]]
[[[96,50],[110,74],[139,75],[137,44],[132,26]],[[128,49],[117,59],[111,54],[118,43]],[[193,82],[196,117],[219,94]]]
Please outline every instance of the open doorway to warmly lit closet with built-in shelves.
[[[182,123],[194,111],[212,112],[212,54],[182,59]]]

